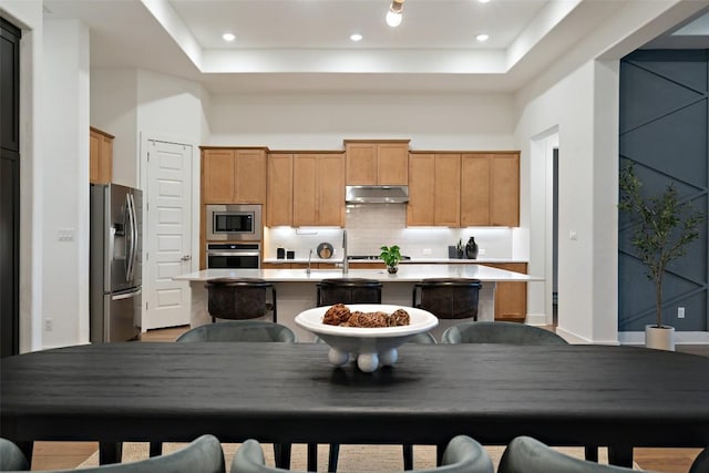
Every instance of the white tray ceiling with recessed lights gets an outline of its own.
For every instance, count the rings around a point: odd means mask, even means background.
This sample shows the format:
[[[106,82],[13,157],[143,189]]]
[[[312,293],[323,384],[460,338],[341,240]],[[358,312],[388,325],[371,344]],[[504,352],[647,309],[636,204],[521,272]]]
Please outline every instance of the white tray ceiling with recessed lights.
[[[44,6],[48,20],[88,24],[92,66],[153,70],[199,81],[213,93],[322,93],[514,91],[638,1],[648,0],[407,0],[399,28],[384,22],[390,0],[45,0]],[[674,38],[675,45],[693,41],[709,48],[706,18],[699,32],[686,28],[687,34]],[[227,31],[236,35],[233,43],[222,40]],[[362,34],[362,41],[350,41],[351,33]],[[477,42],[479,33],[490,40]],[[703,45],[697,45],[698,38]]]

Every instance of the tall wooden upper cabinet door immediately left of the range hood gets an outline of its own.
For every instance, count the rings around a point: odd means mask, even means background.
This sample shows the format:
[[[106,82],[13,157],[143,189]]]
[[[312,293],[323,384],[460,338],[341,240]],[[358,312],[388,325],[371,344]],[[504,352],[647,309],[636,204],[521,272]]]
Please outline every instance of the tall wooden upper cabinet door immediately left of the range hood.
[[[318,156],[318,225],[345,226],[345,156]]]

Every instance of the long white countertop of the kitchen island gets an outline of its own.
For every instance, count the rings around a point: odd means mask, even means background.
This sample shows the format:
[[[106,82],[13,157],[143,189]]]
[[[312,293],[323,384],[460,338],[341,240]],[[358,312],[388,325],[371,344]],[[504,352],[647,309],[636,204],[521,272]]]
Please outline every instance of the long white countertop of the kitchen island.
[[[290,263],[294,260],[291,259]],[[328,260],[329,261],[329,260]],[[481,281],[541,281],[540,277],[521,273],[491,268],[489,266],[444,265],[444,264],[405,264],[399,265],[399,273],[390,275],[382,266],[381,269],[354,269],[350,266],[347,275],[341,269],[312,269],[307,274],[305,269],[203,269],[176,276],[175,280],[206,281],[214,278],[260,278],[271,282],[317,282],[327,278],[367,278],[382,282],[415,282],[425,278],[472,278]]]

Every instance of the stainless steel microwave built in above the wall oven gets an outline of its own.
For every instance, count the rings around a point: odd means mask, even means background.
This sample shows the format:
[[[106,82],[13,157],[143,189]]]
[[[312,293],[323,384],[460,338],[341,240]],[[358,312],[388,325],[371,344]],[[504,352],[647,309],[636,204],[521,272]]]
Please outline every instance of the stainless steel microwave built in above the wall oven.
[[[207,240],[261,239],[260,205],[207,205],[205,220]]]

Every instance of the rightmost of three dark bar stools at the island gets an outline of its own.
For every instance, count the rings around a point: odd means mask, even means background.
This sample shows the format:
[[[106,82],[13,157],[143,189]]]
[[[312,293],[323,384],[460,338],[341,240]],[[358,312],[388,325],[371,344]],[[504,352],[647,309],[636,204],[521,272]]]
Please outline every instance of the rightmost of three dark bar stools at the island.
[[[412,306],[439,319],[477,320],[480,279],[429,278],[413,287]]]

